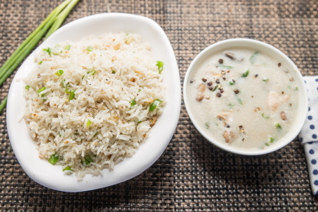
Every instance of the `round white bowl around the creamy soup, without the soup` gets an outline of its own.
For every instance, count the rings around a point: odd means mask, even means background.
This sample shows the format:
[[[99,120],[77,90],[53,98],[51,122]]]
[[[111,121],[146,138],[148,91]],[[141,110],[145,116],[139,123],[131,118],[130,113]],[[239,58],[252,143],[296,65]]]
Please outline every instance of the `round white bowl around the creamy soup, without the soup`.
[[[223,50],[226,48],[252,48],[254,50],[259,50],[261,52],[266,52],[268,55],[271,55],[272,57],[280,60],[284,64],[284,66],[287,67],[290,71],[291,76],[293,76],[298,86],[298,108],[297,108],[297,115],[294,120],[294,124],[291,126],[291,129],[289,132],[282,137],[282,139],[275,141],[273,145],[270,145],[268,148],[265,148],[263,150],[242,150],[238,149],[232,146],[227,145],[224,143],[224,141],[215,141],[215,139],[212,139],[211,136],[209,136],[205,131],[203,130],[203,127],[201,125],[198,125],[198,122],[194,118],[194,109],[191,109],[189,106],[189,99],[187,98],[187,84],[189,81],[189,76],[191,75],[191,72],[198,69],[198,67],[202,64],[202,62],[205,61],[210,55],[214,54],[215,52],[219,50]],[[267,153],[271,153],[275,150],[278,150],[284,146],[286,146],[288,143],[293,141],[296,136],[301,132],[301,128],[303,127],[303,124],[305,122],[305,118],[307,116],[308,112],[308,95],[307,90],[305,88],[305,83],[303,80],[303,76],[301,75],[301,71],[298,70],[297,66],[294,64],[294,62],[287,57],[287,55],[284,55],[283,52],[278,50],[277,48],[273,47],[272,45],[269,45],[267,43],[263,43],[261,41],[256,41],[248,38],[232,38],[224,41],[219,41],[217,43],[214,43],[210,45],[208,48],[205,48],[202,52],[200,52],[194,60],[191,62],[189,68],[187,69],[187,73],[185,75],[185,80],[183,83],[183,99],[185,101],[185,107],[187,109],[187,113],[189,114],[189,117],[196,127],[198,129],[198,132],[200,132],[205,139],[210,141],[210,143],[214,144],[215,146],[221,148],[222,150],[226,150],[230,153],[236,153],[240,155],[263,155]]]

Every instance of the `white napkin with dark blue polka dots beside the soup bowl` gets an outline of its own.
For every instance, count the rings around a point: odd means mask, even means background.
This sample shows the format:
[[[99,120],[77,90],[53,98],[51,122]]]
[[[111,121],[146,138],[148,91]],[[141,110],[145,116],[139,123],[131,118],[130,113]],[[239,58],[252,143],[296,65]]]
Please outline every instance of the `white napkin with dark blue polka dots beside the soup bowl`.
[[[313,195],[318,195],[318,76],[305,76],[308,89],[308,116],[299,134],[308,164],[308,172]]]

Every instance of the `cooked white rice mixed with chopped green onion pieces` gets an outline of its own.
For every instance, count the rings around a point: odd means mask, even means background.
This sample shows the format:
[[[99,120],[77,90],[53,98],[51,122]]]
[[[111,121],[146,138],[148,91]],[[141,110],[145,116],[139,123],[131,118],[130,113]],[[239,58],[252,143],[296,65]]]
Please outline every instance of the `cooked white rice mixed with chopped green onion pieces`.
[[[131,157],[163,112],[163,74],[150,46],[136,34],[59,43],[38,50],[36,63],[24,79],[29,86],[24,119],[39,157],[59,155],[61,171],[71,167],[64,172],[75,173],[78,180]],[[71,90],[75,95],[69,100]],[[133,99],[136,105],[131,106]],[[156,99],[162,102],[150,111]],[[93,162],[85,164],[87,156]]]

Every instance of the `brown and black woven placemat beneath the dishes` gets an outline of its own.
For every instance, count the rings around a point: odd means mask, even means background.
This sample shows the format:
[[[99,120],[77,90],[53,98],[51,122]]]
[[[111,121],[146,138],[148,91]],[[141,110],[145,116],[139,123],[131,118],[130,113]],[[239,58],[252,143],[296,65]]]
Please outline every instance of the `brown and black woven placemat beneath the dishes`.
[[[0,1],[0,64],[62,0]],[[289,55],[304,75],[318,74],[318,3],[263,1],[80,1],[65,22],[97,13],[144,15],[166,31],[181,83],[194,57],[226,38],[255,38]],[[0,99],[11,79],[0,87]],[[0,115],[0,211],[317,211],[303,148],[296,139],[269,155],[219,150],[196,131],[185,106],[165,152],[130,181],[79,193],[50,190],[22,170]]]

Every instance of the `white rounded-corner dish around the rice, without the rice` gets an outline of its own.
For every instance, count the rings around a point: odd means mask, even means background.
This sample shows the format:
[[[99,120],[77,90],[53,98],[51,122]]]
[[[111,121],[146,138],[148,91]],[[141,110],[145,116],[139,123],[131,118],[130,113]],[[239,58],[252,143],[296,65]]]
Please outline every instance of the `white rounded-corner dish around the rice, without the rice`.
[[[81,192],[104,188],[127,181],[150,167],[168,146],[178,124],[181,105],[181,88],[178,64],[173,48],[164,30],[150,18],[124,13],[104,13],[83,17],[66,24],[45,40],[38,48],[43,49],[62,41],[79,41],[91,34],[101,35],[108,32],[139,34],[143,42],[151,45],[154,57],[164,62],[164,85],[166,101],[164,113],[150,130],[147,139],[136,150],[135,155],[115,165],[113,171],[103,170],[103,176],[87,174],[78,181],[75,174],[63,173],[62,166],[53,166],[38,157],[36,143],[29,136],[23,116],[25,99],[23,97],[25,78],[36,65],[34,52],[22,64],[10,85],[7,104],[7,127],[10,143],[22,169],[37,183],[54,190]]]

